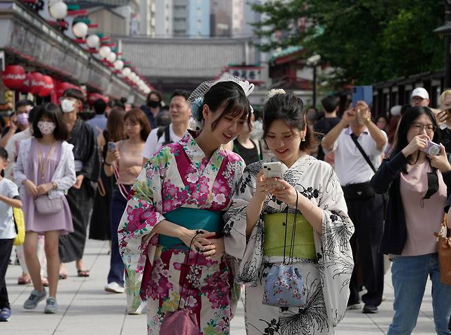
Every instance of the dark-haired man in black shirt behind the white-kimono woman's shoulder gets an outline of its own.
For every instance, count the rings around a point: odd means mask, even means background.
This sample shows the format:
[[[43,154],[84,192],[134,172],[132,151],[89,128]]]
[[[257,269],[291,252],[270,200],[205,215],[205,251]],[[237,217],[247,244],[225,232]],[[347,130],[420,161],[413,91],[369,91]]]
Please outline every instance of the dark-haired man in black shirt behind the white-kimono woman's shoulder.
[[[337,116],[339,110],[339,98],[329,95],[328,97],[321,99],[321,107],[324,111],[324,118],[318,120],[313,126],[313,130],[318,134],[319,143],[321,143],[322,138],[330,132],[330,129],[340,122],[340,118]],[[318,148],[317,158],[319,160],[324,160],[324,151],[321,145],[319,145]]]

